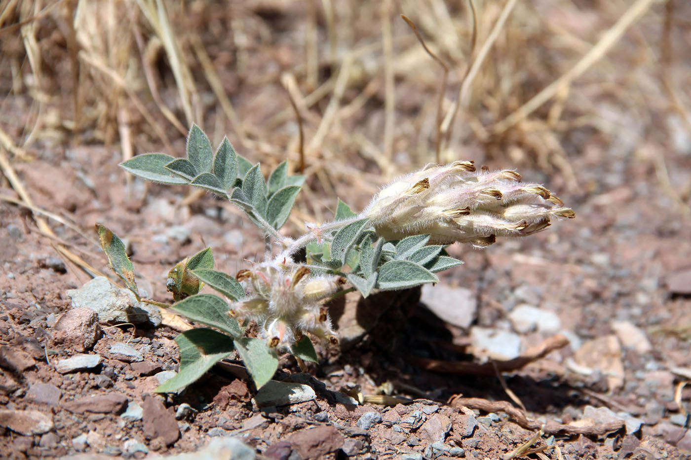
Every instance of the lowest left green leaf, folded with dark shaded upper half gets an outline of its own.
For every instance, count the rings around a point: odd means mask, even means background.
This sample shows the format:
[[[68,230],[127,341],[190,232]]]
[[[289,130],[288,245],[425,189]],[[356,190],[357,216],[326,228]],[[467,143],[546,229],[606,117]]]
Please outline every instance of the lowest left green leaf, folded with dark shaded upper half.
[[[180,347],[180,371],[159,385],[157,393],[176,392],[196,382],[234,349],[231,337],[206,327],[185,331],[175,341]]]

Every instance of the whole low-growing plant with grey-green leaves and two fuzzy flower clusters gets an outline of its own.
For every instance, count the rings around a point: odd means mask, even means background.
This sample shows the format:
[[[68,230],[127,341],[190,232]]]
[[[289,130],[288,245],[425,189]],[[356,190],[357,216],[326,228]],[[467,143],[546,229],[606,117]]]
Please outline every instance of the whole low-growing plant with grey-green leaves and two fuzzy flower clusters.
[[[230,200],[265,232],[265,260],[230,276],[214,270],[211,248],[182,260],[169,272],[167,288],[176,303],[163,305],[198,327],[176,338],[180,369],[158,387],[173,392],[193,383],[217,361],[237,351],[256,387],[274,375],[278,353],[299,363],[317,361],[312,339],[337,343],[328,308],[332,298],[357,289],[374,291],[437,282],[437,273],[462,262],[444,246],[466,242],[484,247],[497,236],[526,236],[551,218],[574,211],[538,184],[525,184],[515,171],[477,171],[473,162],[431,164],[382,189],[361,213],[339,200],[332,222],[306,223],[296,239],[278,232],[305,182],[279,164],[265,180],[259,164],[238,155],[227,138],[216,152],[192,125],[187,158],[145,153],[121,166],[163,184],[191,184]],[[115,273],[140,299],[133,265],[115,234],[97,225],[101,245]],[[304,250],[306,260],[296,260]],[[199,294],[208,285],[218,294]],[[240,320],[240,322],[238,322]],[[250,323],[258,337],[246,336]],[[242,325],[240,325],[242,324]]]

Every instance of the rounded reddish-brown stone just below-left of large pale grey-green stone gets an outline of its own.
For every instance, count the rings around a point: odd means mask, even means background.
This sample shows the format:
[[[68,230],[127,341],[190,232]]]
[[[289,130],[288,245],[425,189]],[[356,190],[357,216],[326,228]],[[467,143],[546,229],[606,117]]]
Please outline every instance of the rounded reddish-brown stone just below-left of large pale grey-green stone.
[[[53,327],[53,342],[86,352],[101,336],[98,315],[91,308],[72,308],[62,314]]]

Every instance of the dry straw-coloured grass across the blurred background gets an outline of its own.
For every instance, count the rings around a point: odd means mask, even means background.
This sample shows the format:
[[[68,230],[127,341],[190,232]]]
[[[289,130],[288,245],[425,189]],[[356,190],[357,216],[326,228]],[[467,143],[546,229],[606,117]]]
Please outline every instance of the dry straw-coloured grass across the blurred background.
[[[435,157],[531,163],[578,191],[578,139],[617,142],[605,102],[663,145],[668,117],[691,130],[685,3],[2,0],[0,143],[16,161],[94,142],[180,155],[194,121],[269,166],[303,154],[325,192],[306,194],[313,220]]]

